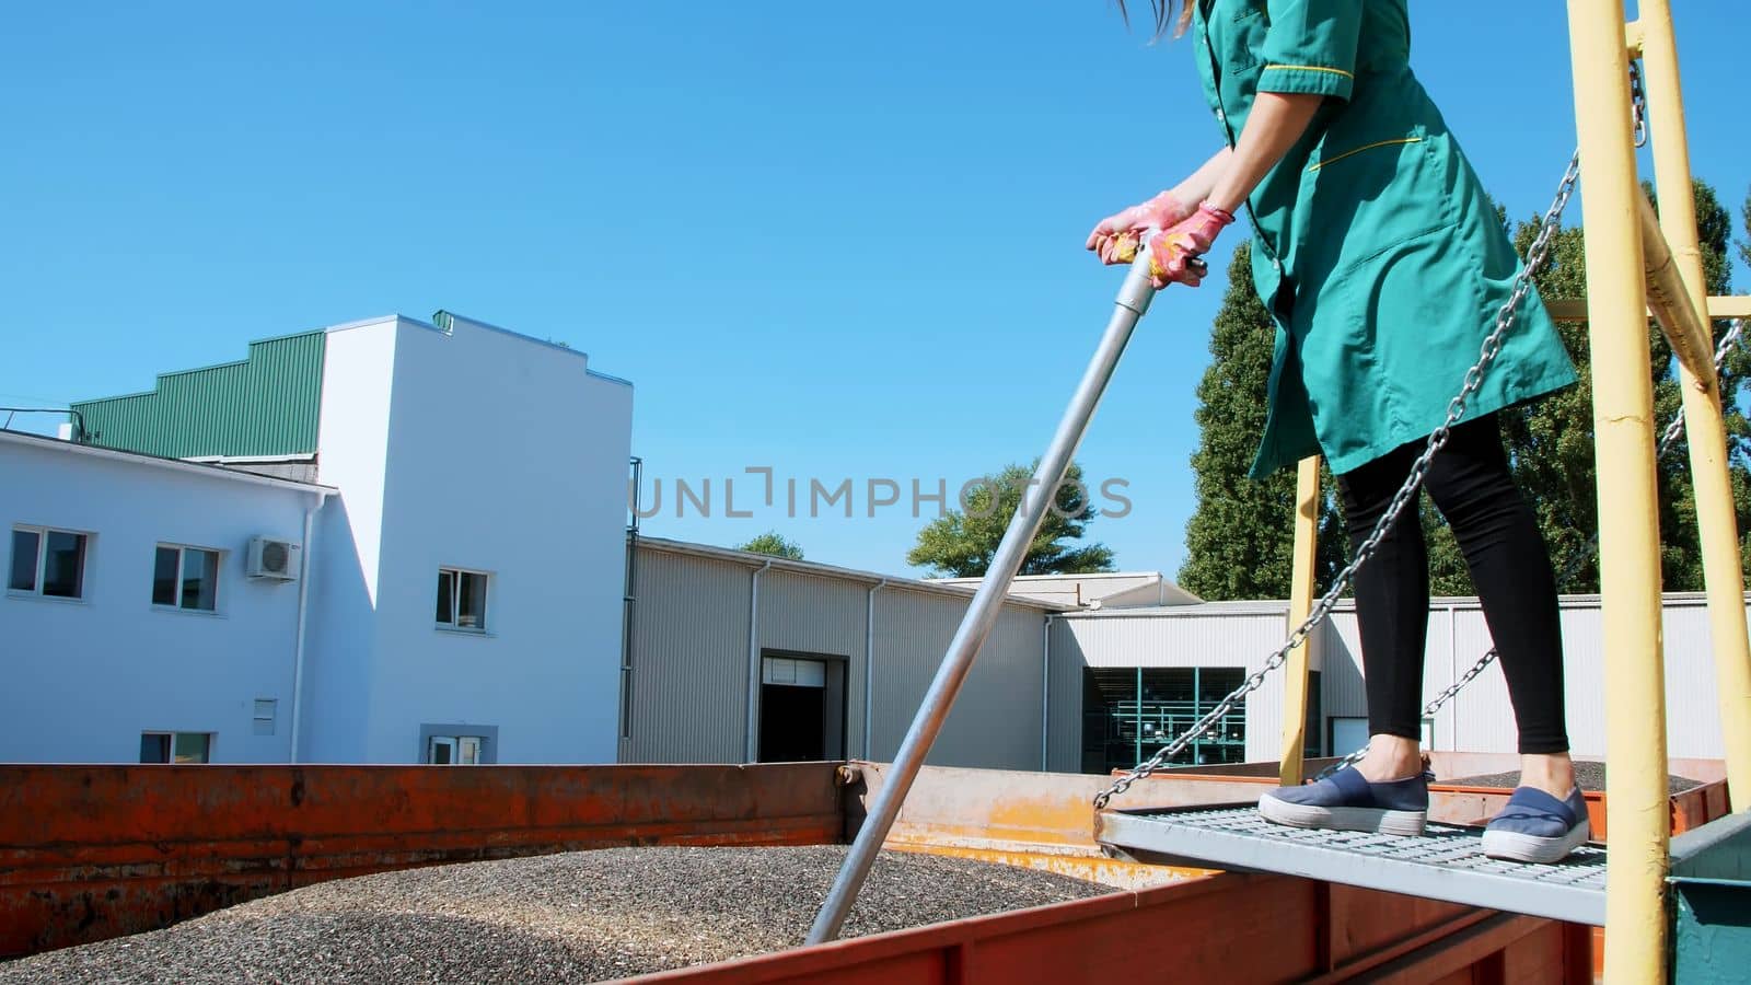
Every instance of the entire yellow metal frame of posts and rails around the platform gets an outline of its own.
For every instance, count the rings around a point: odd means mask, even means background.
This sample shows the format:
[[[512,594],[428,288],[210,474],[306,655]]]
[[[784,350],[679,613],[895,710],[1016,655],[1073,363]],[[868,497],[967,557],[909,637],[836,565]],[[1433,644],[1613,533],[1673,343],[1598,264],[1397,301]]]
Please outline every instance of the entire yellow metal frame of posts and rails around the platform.
[[[1604,606],[1604,687],[1611,759],[1606,889],[1606,981],[1665,978],[1669,868],[1665,666],[1660,638],[1660,529],[1655,487],[1653,382],[1646,347],[1653,315],[1679,358],[1690,470],[1709,598],[1726,780],[1733,804],[1751,804],[1751,641],[1744,619],[1739,528],[1726,428],[1709,359],[1707,319],[1751,317],[1751,296],[1707,296],[1691,198],[1677,46],[1669,0],[1641,0],[1625,25],[1623,0],[1569,0],[1574,116],[1581,147],[1586,301],[1551,301],[1551,314],[1586,321],[1593,368],[1599,482],[1599,568]],[[1637,186],[1628,61],[1642,58],[1662,210]],[[1313,598],[1319,459],[1301,461],[1296,489],[1289,624]],[[1299,783],[1306,736],[1306,645],[1290,654],[1280,778]],[[1744,810],[1744,806],[1740,806]]]

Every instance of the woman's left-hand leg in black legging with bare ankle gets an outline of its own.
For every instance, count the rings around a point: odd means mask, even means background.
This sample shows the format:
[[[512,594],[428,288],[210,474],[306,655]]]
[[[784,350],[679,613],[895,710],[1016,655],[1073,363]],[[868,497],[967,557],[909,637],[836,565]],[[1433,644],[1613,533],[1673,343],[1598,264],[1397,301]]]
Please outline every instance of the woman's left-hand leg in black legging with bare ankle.
[[[1403,445],[1338,477],[1350,554],[1410,475],[1422,442]],[[1368,755],[1355,764],[1373,783],[1422,773],[1422,668],[1429,634],[1429,549],[1410,505],[1355,573],[1355,622],[1368,687]]]

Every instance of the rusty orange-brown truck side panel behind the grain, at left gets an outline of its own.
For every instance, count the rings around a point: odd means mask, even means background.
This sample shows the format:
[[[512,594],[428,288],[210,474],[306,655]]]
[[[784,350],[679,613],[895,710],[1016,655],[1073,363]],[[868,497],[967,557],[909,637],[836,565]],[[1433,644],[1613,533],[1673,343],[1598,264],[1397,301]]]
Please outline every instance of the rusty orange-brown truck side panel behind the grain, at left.
[[[0,957],[385,869],[835,843],[835,766],[0,766]]]

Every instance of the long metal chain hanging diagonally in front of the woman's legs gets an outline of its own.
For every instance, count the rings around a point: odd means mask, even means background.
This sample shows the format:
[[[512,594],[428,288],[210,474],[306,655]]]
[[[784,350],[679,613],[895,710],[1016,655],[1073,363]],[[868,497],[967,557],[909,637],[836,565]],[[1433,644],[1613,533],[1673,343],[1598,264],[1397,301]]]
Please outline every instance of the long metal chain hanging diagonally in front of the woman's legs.
[[[1532,238],[1532,247],[1527,249],[1525,266],[1515,277],[1515,287],[1508,294],[1508,300],[1502,301],[1502,307],[1495,312],[1495,328],[1490,330],[1488,337],[1485,337],[1483,347],[1478,352],[1478,363],[1473,365],[1469,370],[1466,370],[1464,386],[1460,387],[1459,394],[1455,394],[1453,400],[1448,401],[1446,405],[1446,421],[1443,421],[1441,426],[1429,435],[1429,443],[1424,447],[1424,452],[1417,456],[1417,461],[1411,463],[1411,470],[1410,475],[1404,478],[1404,485],[1401,485],[1399,491],[1392,496],[1392,501],[1387,505],[1387,512],[1382,514],[1380,521],[1375,524],[1375,529],[1368,535],[1368,540],[1364,540],[1355,549],[1355,557],[1352,557],[1350,563],[1345,564],[1341,571],[1338,571],[1338,577],[1333,578],[1331,587],[1326,589],[1324,596],[1320,596],[1319,603],[1313,606],[1313,612],[1310,612],[1308,617],[1301,620],[1301,626],[1297,626],[1296,631],[1289,634],[1289,638],[1283,641],[1282,647],[1276,648],[1276,652],[1266,657],[1264,666],[1248,675],[1240,687],[1227,692],[1220,701],[1217,701],[1215,706],[1210,708],[1206,715],[1198,719],[1191,729],[1187,729],[1178,738],[1156,750],[1156,754],[1145,759],[1143,762],[1138,762],[1129,771],[1117,776],[1105,790],[1096,794],[1094,796],[1096,810],[1103,810],[1112,801],[1112,797],[1131,789],[1131,783],[1152,775],[1156,769],[1161,768],[1163,762],[1184,752],[1185,747],[1191,745],[1198,736],[1205,734],[1210,729],[1210,726],[1217,724],[1224,715],[1233,712],[1234,705],[1238,705],[1243,698],[1262,687],[1264,678],[1276,668],[1289,663],[1289,654],[1296,647],[1304,643],[1306,638],[1313,633],[1313,629],[1317,629],[1319,624],[1324,622],[1326,617],[1329,617],[1331,612],[1338,606],[1338,598],[1343,594],[1345,589],[1350,587],[1350,580],[1355,578],[1355,571],[1369,557],[1373,557],[1375,549],[1378,549],[1380,542],[1385,540],[1387,531],[1392,529],[1392,524],[1399,519],[1399,514],[1403,514],[1410,503],[1417,501],[1417,494],[1422,489],[1424,475],[1429,471],[1429,463],[1434,461],[1436,452],[1439,452],[1443,445],[1446,445],[1446,438],[1452,433],[1453,424],[1457,424],[1459,419],[1466,415],[1466,405],[1483,386],[1483,373],[1488,370],[1490,363],[1495,361],[1495,356],[1501,354],[1502,340],[1508,337],[1508,331],[1513,328],[1515,319],[1520,315],[1520,301],[1523,301],[1525,296],[1532,291],[1532,272],[1544,263],[1544,256],[1550,252],[1550,244],[1551,238],[1557,235],[1557,228],[1562,219],[1562,210],[1569,205],[1569,196],[1574,195],[1574,182],[1579,179],[1579,175],[1581,175],[1581,152],[1576,151],[1574,156],[1569,158],[1569,167],[1562,174],[1562,182],[1557,186],[1557,198],[1550,203],[1550,209],[1539,221],[1537,237]]]

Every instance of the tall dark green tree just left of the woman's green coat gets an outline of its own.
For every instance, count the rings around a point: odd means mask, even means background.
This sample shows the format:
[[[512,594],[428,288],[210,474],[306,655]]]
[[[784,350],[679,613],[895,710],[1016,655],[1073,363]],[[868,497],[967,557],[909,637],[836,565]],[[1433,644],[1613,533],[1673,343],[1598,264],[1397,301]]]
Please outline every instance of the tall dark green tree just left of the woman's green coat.
[[[1178,582],[1206,599],[1287,598],[1294,556],[1296,473],[1247,477],[1264,433],[1275,326],[1252,284],[1252,249],[1227,265],[1227,293],[1210,333],[1210,368],[1198,382],[1198,510],[1185,524]],[[1322,470],[1319,582],[1343,564],[1331,473]]]

